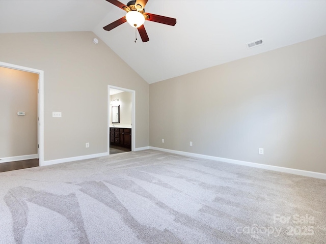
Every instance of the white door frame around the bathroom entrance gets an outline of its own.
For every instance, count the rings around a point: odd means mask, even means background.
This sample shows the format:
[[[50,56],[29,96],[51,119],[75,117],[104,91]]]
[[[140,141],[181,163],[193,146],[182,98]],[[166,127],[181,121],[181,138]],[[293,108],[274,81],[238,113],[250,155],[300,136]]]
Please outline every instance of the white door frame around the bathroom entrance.
[[[118,89],[118,90],[123,90],[124,92],[129,92],[132,95],[132,100],[131,100],[131,151],[134,151],[135,148],[135,142],[136,142],[136,132],[135,132],[135,114],[136,114],[136,92],[135,90],[130,90],[118,86],[113,86],[113,85],[108,85],[107,86],[107,154],[110,155],[110,88],[112,89]]]

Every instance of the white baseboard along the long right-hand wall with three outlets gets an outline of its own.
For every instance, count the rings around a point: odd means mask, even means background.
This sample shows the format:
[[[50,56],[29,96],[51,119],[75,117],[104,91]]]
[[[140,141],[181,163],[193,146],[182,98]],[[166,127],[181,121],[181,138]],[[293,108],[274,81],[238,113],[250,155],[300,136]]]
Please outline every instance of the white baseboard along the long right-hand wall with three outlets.
[[[266,165],[266,164],[258,164],[258,163],[240,161],[240,160],[235,160],[235,159],[226,159],[226,158],[207,156],[207,155],[202,155],[202,154],[187,153],[185,151],[176,151],[176,150],[165,149],[165,148],[160,148],[160,147],[153,147],[153,146],[150,146],[149,149],[165,151],[167,153],[178,154],[178,155],[183,155],[183,156],[188,156],[188,157],[209,159],[209,160],[244,165],[244,166],[249,166],[249,167],[254,167],[254,168],[273,170],[273,171],[278,171],[278,172],[283,172],[283,173],[308,176],[308,177],[313,177],[313,178],[318,178],[318,179],[326,179],[326,174],[319,173],[319,172],[313,172],[313,171],[307,171],[307,170],[301,170],[301,169],[285,168],[285,167]]]

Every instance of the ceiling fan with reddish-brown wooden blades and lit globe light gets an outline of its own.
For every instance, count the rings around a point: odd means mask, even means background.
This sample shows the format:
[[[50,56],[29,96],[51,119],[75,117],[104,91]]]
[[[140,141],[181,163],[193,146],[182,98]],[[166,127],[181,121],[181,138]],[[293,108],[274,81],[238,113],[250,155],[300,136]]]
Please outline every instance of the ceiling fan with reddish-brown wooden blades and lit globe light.
[[[115,6],[123,9],[127,12],[126,16],[112,22],[103,27],[105,31],[111,31],[113,28],[123,24],[124,22],[128,22],[132,27],[138,29],[139,35],[142,38],[143,42],[148,42],[149,38],[146,33],[145,27],[143,23],[145,20],[161,23],[161,24],[168,24],[168,25],[175,25],[177,23],[177,19],[170,18],[166,16],[161,16],[157,14],[150,14],[145,13],[145,5],[148,0],[133,0],[124,5],[123,3],[119,2],[118,0],[106,0],[109,3],[114,4]]]

